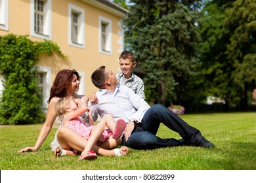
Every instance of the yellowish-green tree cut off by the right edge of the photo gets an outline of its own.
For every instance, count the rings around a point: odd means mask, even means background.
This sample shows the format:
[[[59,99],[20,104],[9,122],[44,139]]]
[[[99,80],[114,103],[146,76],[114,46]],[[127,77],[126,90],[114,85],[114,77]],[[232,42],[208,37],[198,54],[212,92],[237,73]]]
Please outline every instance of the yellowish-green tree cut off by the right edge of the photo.
[[[248,93],[253,92],[256,83],[256,2],[237,0],[226,9],[224,26],[233,32],[226,54],[232,61],[230,79],[233,89],[231,97],[240,99],[242,110],[248,107]]]

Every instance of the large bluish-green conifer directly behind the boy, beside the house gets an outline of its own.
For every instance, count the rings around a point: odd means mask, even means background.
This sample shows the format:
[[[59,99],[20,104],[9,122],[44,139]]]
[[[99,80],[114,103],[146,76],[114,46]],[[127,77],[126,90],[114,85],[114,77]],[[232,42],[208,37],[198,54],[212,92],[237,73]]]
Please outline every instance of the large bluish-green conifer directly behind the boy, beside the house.
[[[130,1],[125,22],[129,50],[137,55],[148,101],[182,103],[196,76],[200,1]],[[189,93],[190,94],[190,93]]]

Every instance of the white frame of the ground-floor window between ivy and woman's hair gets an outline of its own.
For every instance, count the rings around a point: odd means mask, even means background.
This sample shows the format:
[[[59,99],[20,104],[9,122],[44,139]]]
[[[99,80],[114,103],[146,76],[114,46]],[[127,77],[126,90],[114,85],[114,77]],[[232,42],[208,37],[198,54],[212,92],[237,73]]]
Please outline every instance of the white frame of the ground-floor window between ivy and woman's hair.
[[[43,108],[47,110],[47,100],[50,97],[51,91],[51,67],[37,66],[37,73],[43,73]]]

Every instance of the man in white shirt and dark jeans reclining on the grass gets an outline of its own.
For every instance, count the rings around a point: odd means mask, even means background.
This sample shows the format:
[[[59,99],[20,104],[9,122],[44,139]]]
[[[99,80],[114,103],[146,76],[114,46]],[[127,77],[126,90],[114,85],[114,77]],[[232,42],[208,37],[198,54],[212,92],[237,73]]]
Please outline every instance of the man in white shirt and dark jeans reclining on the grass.
[[[98,114],[112,114],[115,120],[122,118],[127,123],[123,144],[136,149],[152,149],[166,146],[192,144],[204,148],[214,145],[201,132],[188,125],[179,116],[163,105],[150,107],[144,99],[127,86],[119,86],[116,74],[105,66],[99,67],[91,75],[93,84],[100,89],[96,92],[98,103],[89,103],[93,110],[93,120]],[[160,124],[176,131],[182,139],[161,139],[156,136]]]

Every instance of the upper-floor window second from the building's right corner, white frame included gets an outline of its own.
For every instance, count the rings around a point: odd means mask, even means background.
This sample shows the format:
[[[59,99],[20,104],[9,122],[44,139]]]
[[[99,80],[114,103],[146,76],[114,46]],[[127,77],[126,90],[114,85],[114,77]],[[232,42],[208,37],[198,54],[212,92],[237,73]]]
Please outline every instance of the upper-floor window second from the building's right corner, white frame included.
[[[68,45],[85,48],[85,11],[68,5]]]

